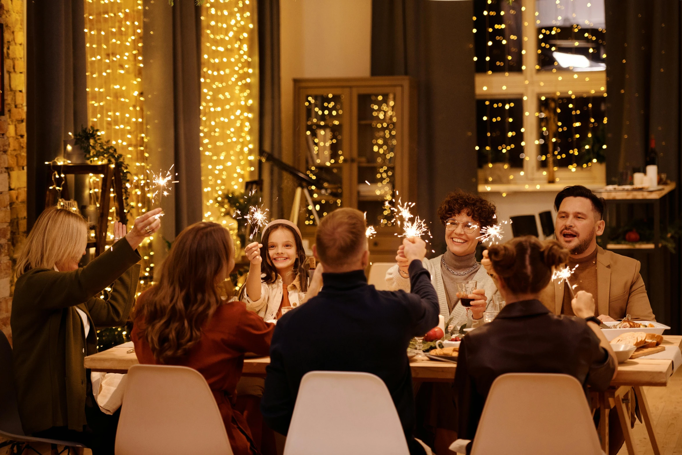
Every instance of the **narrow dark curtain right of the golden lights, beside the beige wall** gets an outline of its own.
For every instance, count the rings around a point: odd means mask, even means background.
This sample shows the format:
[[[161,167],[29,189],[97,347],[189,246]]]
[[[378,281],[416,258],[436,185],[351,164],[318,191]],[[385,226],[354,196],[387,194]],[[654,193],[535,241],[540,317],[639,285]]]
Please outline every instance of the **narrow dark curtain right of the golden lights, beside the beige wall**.
[[[258,112],[261,149],[282,158],[282,123],[280,119],[280,1],[258,0]],[[258,179],[263,182],[263,203],[274,219],[284,218],[282,171],[259,162]]]

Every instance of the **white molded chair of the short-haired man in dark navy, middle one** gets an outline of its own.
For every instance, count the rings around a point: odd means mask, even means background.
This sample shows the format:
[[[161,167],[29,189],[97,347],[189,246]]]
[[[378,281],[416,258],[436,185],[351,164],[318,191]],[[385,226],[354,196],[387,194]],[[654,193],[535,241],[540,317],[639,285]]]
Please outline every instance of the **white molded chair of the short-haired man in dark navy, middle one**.
[[[379,377],[311,371],[299,387],[284,455],[409,455],[398,412]]]

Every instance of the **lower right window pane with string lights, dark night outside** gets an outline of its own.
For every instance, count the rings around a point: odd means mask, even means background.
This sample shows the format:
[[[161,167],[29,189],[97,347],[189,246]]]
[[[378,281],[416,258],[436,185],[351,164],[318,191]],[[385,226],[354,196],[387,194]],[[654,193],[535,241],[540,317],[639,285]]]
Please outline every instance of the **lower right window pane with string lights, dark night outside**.
[[[542,97],[544,98],[544,97]],[[601,96],[540,99],[542,167],[589,167],[604,162],[606,100]]]

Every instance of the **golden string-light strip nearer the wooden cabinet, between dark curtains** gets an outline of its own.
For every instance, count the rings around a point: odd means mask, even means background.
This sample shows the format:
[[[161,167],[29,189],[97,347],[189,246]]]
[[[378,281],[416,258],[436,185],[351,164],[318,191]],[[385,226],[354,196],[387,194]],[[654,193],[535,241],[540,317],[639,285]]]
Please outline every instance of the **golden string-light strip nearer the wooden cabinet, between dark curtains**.
[[[184,1],[184,0],[183,0]],[[201,179],[204,219],[226,211],[258,159],[258,50],[253,0],[206,1],[201,43]]]

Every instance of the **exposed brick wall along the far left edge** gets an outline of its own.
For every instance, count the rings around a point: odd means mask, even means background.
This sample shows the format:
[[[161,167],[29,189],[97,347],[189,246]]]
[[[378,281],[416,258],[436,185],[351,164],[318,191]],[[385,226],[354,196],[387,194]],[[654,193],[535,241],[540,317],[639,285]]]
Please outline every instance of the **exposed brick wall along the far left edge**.
[[[12,340],[12,267],[26,239],[26,104],[23,0],[1,0],[5,115],[0,116],[0,330]]]

